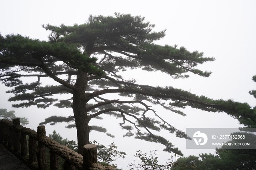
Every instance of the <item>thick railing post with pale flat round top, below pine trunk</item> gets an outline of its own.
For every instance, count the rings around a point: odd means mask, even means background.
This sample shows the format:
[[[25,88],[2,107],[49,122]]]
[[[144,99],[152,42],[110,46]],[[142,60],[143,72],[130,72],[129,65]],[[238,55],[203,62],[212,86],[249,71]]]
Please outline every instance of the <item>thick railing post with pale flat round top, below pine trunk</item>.
[[[93,163],[97,163],[97,145],[86,144],[83,147],[83,170],[88,170]]]

